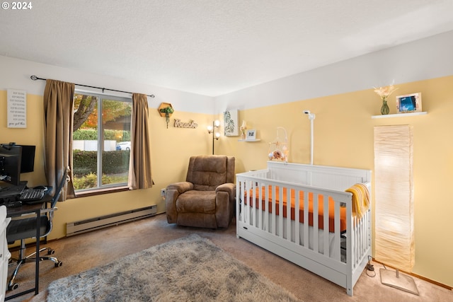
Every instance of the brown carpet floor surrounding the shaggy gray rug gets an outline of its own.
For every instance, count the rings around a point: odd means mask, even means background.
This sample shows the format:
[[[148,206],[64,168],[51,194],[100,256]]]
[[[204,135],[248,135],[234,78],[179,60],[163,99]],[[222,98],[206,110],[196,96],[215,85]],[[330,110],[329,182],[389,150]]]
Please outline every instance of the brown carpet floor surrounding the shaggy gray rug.
[[[116,259],[132,255],[171,240],[197,234],[212,241],[217,247],[240,260],[255,272],[259,272],[275,284],[290,291],[305,302],[453,302],[453,292],[428,281],[414,278],[420,296],[406,293],[381,284],[379,269],[383,266],[372,262],[374,272],[362,272],[354,286],[354,295],[348,296],[342,287],[327,281],[292,262],[288,262],[273,253],[264,250],[247,240],[236,238],[236,224],[233,221],[229,228],[211,230],[206,228],[189,228],[168,224],[165,214],[148,219],[111,226],[98,231],[54,240],[47,245],[55,249],[55,256],[63,262],[62,267],[54,267],[52,262],[40,264],[40,293],[27,294],[10,300],[11,302],[41,302],[47,299],[47,287],[52,281],[79,274],[94,267],[101,267]],[[28,253],[34,248],[28,248]],[[11,251],[15,254],[16,252]],[[15,291],[8,291],[6,296],[29,289],[34,282],[33,264],[21,268],[16,281],[20,284]]]

